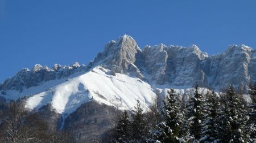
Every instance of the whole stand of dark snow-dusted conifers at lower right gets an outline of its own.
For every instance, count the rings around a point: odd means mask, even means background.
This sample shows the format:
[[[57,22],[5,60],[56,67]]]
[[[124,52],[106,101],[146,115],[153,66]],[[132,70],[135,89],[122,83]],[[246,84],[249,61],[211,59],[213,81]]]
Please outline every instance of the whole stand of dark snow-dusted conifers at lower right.
[[[137,101],[135,111],[117,117],[108,142],[256,142],[256,84],[251,103],[232,85],[222,94],[193,89],[187,102],[170,89],[163,106],[155,103],[150,112]]]

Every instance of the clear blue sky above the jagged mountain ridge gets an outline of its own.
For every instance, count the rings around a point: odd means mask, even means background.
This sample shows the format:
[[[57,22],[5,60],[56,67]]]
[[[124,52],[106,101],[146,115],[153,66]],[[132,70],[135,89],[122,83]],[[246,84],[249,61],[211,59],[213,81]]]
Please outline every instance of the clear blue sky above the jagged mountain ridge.
[[[256,47],[256,1],[0,0],[0,82],[40,63],[87,64],[123,34],[208,54]]]

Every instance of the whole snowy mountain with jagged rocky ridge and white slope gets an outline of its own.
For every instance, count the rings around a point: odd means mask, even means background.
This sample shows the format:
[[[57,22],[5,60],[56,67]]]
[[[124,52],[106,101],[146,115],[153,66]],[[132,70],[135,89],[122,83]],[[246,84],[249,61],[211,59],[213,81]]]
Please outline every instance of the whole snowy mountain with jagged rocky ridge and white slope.
[[[23,68],[0,85],[0,97],[24,98],[28,110],[49,109],[58,116],[59,128],[77,127],[81,122],[85,129],[97,128],[104,133],[113,126],[114,109],[133,110],[139,99],[148,110],[168,88],[186,94],[196,83],[217,91],[233,84],[246,91],[254,81],[256,50],[251,47],[232,45],[223,53],[209,56],[196,45],[160,44],[140,49],[132,37],[125,35],[106,44],[87,66],[74,63],[49,68],[36,64],[32,70]]]

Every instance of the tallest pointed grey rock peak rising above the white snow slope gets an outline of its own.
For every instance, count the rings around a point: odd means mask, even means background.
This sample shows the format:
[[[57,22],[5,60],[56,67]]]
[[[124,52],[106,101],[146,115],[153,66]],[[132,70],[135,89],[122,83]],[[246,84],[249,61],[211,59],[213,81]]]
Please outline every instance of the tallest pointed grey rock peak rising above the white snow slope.
[[[141,49],[137,42],[131,36],[121,36],[116,41],[112,40],[106,44],[102,53],[98,53],[93,65],[100,64],[114,72],[119,73],[134,73],[136,76],[141,76],[135,60],[137,54],[141,53]]]

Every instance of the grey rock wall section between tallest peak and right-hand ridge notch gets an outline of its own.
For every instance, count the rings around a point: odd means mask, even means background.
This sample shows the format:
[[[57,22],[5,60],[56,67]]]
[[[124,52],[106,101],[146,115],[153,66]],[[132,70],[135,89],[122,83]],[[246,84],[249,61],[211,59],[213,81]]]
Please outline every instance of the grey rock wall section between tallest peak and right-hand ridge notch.
[[[156,84],[188,86],[204,82],[203,60],[208,55],[195,45],[185,48],[160,44],[147,46],[142,53],[146,72]]]

